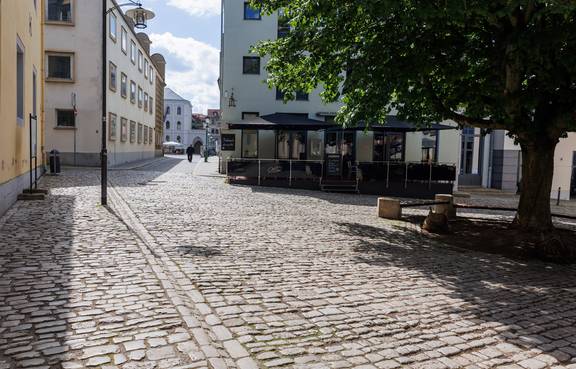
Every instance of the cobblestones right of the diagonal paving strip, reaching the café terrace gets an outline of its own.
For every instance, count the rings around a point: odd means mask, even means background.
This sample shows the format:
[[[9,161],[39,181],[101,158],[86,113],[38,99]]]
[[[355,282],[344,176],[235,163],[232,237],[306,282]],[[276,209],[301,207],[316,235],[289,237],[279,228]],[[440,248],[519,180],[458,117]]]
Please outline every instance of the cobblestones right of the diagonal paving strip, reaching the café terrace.
[[[200,319],[261,367],[576,367],[576,269],[424,243],[375,197],[116,176]],[[154,179],[134,191],[135,178]],[[156,178],[157,177],[157,178]]]

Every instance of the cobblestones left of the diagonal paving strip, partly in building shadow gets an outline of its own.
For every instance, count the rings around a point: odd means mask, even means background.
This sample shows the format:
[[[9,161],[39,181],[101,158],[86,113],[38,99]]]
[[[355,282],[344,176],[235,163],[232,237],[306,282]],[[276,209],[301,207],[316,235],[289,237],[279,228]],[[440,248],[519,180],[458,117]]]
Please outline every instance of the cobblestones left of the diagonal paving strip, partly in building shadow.
[[[186,324],[142,243],[96,205],[96,173],[45,178],[45,202],[19,203],[0,220],[0,368],[225,363]]]

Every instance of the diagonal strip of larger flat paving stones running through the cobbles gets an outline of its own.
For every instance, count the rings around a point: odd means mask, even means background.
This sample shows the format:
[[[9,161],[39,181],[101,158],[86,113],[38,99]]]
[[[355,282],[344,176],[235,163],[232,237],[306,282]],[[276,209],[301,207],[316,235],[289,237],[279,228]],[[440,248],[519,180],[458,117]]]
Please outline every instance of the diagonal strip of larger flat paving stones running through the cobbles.
[[[109,210],[111,210],[111,212],[118,217],[118,219],[122,221],[142,242],[142,245],[139,245],[139,247],[145,255],[147,262],[152,267],[158,280],[162,283],[162,287],[165,289],[168,298],[174,306],[176,306],[178,313],[182,317],[186,326],[190,329],[198,345],[201,348],[205,348],[207,344],[211,344],[213,347],[219,348],[220,350],[218,351],[223,351],[225,353],[225,355],[220,355],[216,360],[209,359],[211,366],[213,366],[214,369],[224,367],[240,367],[247,369],[258,368],[259,366],[256,361],[250,358],[244,345],[234,339],[233,334],[228,330],[228,328],[220,325],[219,332],[216,332],[213,329],[212,325],[207,321],[207,317],[216,314],[206,303],[203,294],[194,287],[188,279],[178,278],[174,275],[177,273],[185,276],[185,273],[183,273],[177,263],[175,263],[172,258],[162,250],[154,236],[152,236],[146,227],[137,219],[136,215],[118,190],[116,190],[113,185],[110,185],[109,188],[110,199],[112,200],[112,206],[109,207]],[[159,250],[159,252],[156,250]],[[153,255],[154,258],[151,258],[151,255]],[[184,282],[185,285],[183,285],[182,282]],[[183,299],[182,296],[178,296],[178,293],[170,293],[170,289],[173,291],[179,291],[185,296],[185,298]],[[186,303],[184,300],[189,301]],[[188,304],[193,307],[193,311],[187,306]],[[200,312],[200,309],[197,306],[198,304],[202,304],[202,310],[206,311],[206,313]],[[202,321],[199,321],[196,317],[202,317]],[[208,334],[206,334],[206,331]],[[200,338],[197,336],[200,336]],[[202,345],[202,343],[204,343],[204,345]],[[231,359],[235,365],[232,366],[230,363],[225,364],[225,361],[228,361],[226,359]],[[222,364],[226,366],[222,366]]]

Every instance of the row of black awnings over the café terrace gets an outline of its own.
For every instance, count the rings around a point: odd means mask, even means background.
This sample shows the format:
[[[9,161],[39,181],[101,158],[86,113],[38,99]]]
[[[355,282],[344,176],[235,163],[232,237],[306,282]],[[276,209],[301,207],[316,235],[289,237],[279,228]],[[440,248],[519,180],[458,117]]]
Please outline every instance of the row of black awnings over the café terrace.
[[[310,119],[308,114],[276,113],[263,115],[261,117],[251,118],[236,123],[229,123],[229,129],[257,129],[257,130],[305,130],[317,131],[321,129],[328,130],[354,130],[362,131],[366,129],[365,123],[360,123],[355,127],[346,127],[336,123],[328,123],[322,120]],[[445,130],[457,129],[443,124],[434,123],[428,126],[419,127],[413,123],[405,122],[394,115],[389,115],[386,124],[370,124],[370,131],[394,131],[394,132],[416,132],[426,130]]]

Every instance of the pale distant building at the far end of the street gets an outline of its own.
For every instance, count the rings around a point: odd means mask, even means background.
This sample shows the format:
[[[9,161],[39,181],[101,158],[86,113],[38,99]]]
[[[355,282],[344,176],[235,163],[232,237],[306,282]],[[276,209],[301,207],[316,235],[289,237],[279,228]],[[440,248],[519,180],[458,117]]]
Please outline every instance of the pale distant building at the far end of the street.
[[[192,104],[170,88],[164,90],[164,141],[194,147],[200,154],[206,131],[198,129],[192,119]]]

